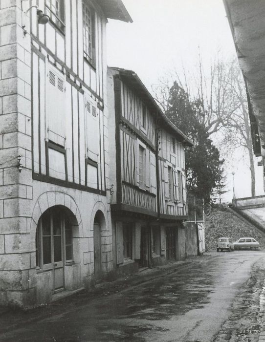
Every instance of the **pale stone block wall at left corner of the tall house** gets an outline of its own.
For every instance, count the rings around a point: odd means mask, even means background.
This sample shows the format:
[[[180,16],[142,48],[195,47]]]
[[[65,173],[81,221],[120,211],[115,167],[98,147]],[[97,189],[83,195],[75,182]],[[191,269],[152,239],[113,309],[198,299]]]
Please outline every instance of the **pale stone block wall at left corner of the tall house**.
[[[0,1],[0,303],[32,297],[30,37],[21,1]],[[18,169],[21,155],[23,172]],[[30,300],[28,300],[30,305]]]

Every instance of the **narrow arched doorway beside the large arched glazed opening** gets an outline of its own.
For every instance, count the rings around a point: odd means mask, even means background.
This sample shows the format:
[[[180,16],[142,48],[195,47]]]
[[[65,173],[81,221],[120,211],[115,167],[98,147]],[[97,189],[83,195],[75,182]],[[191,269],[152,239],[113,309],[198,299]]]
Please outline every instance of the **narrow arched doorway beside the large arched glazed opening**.
[[[94,279],[95,282],[102,280],[102,249],[101,230],[106,226],[104,214],[98,210],[94,218]]]

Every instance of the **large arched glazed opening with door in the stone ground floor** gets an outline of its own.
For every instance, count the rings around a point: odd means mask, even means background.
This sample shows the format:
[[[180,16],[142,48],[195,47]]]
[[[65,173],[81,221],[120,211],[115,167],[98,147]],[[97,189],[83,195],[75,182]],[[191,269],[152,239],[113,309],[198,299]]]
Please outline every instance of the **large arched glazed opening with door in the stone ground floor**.
[[[51,273],[53,293],[65,289],[64,267],[74,262],[72,216],[61,206],[47,209],[36,230],[37,271]]]

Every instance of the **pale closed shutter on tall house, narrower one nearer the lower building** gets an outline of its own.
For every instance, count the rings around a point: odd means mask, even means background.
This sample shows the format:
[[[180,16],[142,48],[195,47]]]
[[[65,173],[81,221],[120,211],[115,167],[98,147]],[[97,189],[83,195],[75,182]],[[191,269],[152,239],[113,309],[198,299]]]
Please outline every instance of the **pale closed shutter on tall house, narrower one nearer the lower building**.
[[[85,98],[85,118],[87,157],[98,162],[100,139],[99,111],[96,103],[92,102],[88,97]]]

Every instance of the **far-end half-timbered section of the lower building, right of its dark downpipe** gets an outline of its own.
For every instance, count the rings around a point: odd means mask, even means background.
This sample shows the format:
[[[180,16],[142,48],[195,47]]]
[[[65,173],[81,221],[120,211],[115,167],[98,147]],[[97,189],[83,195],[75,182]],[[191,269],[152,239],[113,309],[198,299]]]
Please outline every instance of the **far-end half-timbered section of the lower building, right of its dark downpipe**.
[[[184,147],[191,142],[164,117],[157,126],[158,210],[165,256],[181,260],[186,255],[183,220],[188,215]]]

